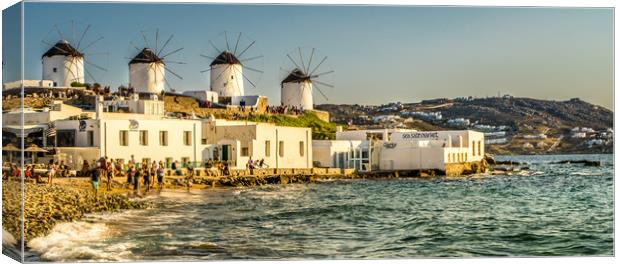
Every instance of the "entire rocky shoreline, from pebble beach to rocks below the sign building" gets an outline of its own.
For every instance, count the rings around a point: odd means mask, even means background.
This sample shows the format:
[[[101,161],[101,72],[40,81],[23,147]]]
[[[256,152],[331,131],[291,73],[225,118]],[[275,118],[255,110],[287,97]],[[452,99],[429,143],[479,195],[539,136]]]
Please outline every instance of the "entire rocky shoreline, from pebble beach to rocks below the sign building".
[[[463,167],[463,168],[461,168]],[[457,175],[468,175],[484,172],[488,165],[462,164]],[[268,184],[294,184],[312,183],[336,179],[382,179],[382,178],[406,178],[406,177],[433,177],[445,175],[446,171],[418,170],[418,171],[385,171],[372,173],[356,173],[353,170],[341,169],[298,169],[278,170],[256,169],[253,173],[246,170],[231,171],[230,176],[214,176],[209,173],[198,173],[191,180],[192,189],[207,189],[214,187],[253,187]],[[277,174],[274,174],[277,173]],[[84,214],[105,211],[119,211],[124,209],[140,209],[148,207],[148,204],[130,199],[130,197],[144,197],[145,193],[141,186],[138,192],[134,192],[127,186],[126,177],[116,177],[113,180],[113,190],[105,190],[105,180],[101,182],[99,195],[95,197],[90,179],[83,177],[57,178],[54,185],[35,184],[28,182],[25,185],[25,238],[30,239],[44,236],[60,222],[79,220]],[[177,189],[187,188],[188,182],[185,176],[164,177],[164,188]],[[157,189],[157,187],[155,187]],[[155,192],[153,190],[152,192]],[[3,182],[2,201],[4,229],[13,237],[20,238],[20,215],[21,215],[21,190],[18,182]]]

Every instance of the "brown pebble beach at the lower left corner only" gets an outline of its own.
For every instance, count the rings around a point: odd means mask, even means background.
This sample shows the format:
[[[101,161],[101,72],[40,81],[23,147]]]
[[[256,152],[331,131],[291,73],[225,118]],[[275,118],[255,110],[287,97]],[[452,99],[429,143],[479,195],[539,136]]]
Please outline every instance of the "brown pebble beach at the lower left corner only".
[[[130,200],[118,193],[95,197],[88,188],[70,185],[25,185],[24,241],[46,235],[56,223],[80,219],[84,214],[148,207],[143,201]],[[18,182],[3,181],[2,225],[13,237],[19,238],[21,225],[21,190]]]

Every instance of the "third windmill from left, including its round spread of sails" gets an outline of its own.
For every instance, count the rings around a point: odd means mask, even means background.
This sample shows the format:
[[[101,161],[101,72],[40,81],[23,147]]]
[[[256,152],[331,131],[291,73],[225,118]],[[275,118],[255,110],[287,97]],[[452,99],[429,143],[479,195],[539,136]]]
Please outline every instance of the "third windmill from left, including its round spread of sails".
[[[209,68],[200,72],[210,72],[211,91],[222,97],[243,96],[246,82],[256,87],[263,74],[257,69],[262,67],[263,55],[257,54],[255,43],[241,32],[223,32],[209,41],[209,52],[200,54],[210,61]]]

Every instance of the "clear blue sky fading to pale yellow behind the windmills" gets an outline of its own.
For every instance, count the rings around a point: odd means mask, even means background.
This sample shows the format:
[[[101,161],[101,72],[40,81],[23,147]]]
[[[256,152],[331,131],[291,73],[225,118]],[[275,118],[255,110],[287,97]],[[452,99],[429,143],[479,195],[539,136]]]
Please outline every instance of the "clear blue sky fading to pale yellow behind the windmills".
[[[92,72],[113,88],[128,82],[127,57],[136,53],[130,41],[142,44],[140,31],[153,36],[159,28],[162,36],[175,35],[171,49],[184,47],[172,57],[187,64],[170,65],[184,78],[169,79],[180,91],[208,88],[209,76],[200,70],[209,61],[199,54],[229,31],[255,40],[254,54],[265,56],[258,88],[246,94],[267,95],[271,104],[279,102],[286,54],[302,46],[328,56],[327,68],[335,70],[328,80],[336,87],[323,88],[330,103],[501,93],[580,97],[613,108],[612,9],[26,3],[26,79],[41,78],[47,49],[41,40],[57,37],[49,33],[54,24],[70,31],[70,20],[92,25],[85,39],[104,36],[91,52],[109,52],[93,58],[109,71]],[[16,32],[8,27],[3,45],[10,48]],[[19,78],[13,70],[19,62],[8,54],[4,81]],[[315,103],[326,101],[315,96]]]

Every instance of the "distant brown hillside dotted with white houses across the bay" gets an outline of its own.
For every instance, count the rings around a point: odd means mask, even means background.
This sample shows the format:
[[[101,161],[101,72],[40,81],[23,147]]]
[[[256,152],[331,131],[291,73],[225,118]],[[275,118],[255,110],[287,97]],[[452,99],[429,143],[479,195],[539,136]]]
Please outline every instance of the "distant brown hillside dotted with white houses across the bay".
[[[434,99],[380,106],[325,104],[332,120],[359,128],[472,129],[495,154],[611,153],[613,112],[579,99],[510,96]],[[575,131],[578,127],[579,131]],[[582,134],[583,133],[583,134]]]

